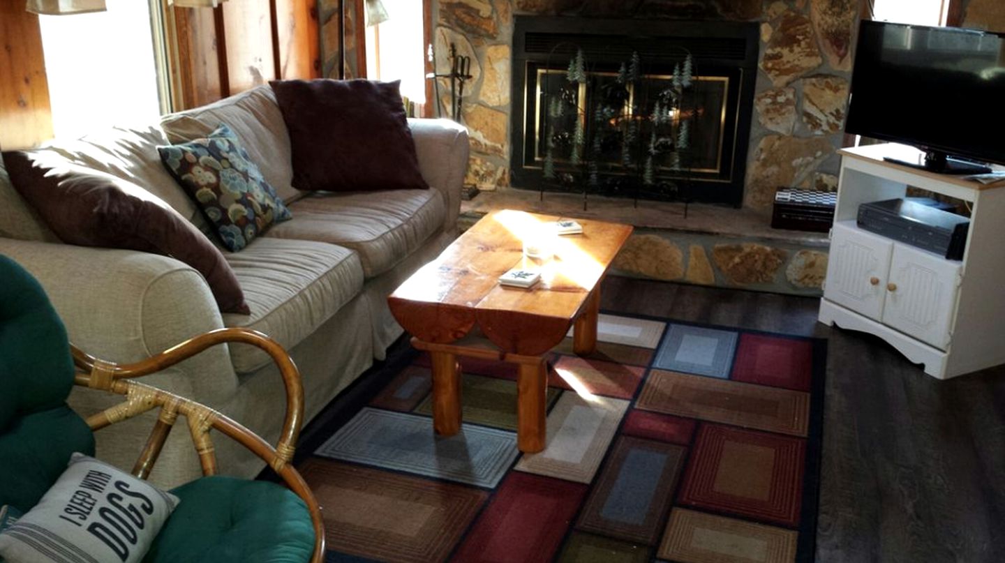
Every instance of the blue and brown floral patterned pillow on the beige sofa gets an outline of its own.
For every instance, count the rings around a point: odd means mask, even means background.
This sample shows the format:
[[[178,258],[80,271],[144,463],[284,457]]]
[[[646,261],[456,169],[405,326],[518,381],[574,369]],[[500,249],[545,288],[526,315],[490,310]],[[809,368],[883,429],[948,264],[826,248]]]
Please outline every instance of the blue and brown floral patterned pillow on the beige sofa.
[[[272,223],[292,217],[226,125],[206,138],[157,150],[228,250],[244,248]]]

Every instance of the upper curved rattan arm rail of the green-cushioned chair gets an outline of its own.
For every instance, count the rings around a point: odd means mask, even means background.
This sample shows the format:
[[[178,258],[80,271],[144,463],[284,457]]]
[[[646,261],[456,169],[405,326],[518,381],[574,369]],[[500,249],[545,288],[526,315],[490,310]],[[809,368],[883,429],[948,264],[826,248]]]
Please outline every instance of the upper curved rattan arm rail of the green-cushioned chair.
[[[76,384],[111,391],[112,383],[116,380],[133,379],[157,373],[191,358],[211,346],[225,343],[257,346],[264,350],[279,368],[282,383],[286,388],[286,414],[276,450],[285,461],[292,460],[293,447],[304,423],[304,385],[300,382],[300,373],[282,346],[258,331],[239,328],[217,329],[186,340],[146,360],[122,365],[95,358],[73,346],[72,343],[70,351],[76,367],[86,372],[77,374]]]

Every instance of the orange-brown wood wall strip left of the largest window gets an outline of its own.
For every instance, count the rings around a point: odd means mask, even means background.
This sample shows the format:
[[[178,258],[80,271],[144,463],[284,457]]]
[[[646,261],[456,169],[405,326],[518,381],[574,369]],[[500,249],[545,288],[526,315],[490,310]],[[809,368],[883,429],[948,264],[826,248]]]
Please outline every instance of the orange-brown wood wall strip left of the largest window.
[[[23,2],[0,2],[0,146],[23,149],[51,138],[38,16]]]

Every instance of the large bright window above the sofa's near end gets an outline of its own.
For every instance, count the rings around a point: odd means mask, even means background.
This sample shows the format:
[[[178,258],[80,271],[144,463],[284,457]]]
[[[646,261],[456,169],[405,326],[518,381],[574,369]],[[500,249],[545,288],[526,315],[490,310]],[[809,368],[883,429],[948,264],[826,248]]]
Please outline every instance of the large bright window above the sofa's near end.
[[[39,16],[57,138],[161,115],[150,4],[107,4],[106,12]]]

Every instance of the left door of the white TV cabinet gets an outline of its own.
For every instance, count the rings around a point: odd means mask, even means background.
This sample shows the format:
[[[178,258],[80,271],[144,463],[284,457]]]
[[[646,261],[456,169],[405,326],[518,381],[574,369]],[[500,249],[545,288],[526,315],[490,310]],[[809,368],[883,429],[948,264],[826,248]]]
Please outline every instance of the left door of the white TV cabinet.
[[[879,321],[893,241],[854,223],[834,223],[823,297]]]

